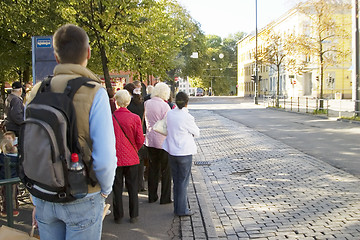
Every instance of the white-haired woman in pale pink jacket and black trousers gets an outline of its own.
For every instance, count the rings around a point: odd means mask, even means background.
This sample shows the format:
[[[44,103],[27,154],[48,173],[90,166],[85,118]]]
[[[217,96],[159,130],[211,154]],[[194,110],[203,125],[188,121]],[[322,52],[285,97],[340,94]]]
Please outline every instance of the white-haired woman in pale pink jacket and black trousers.
[[[170,107],[167,100],[170,96],[170,88],[165,83],[158,83],[154,87],[151,99],[145,104],[146,138],[145,145],[149,150],[149,175],[148,192],[149,203],[158,200],[158,185],[161,179],[161,197],[160,204],[171,203],[171,173],[167,152],[162,149],[165,136],[154,131],[154,124],[163,119]]]

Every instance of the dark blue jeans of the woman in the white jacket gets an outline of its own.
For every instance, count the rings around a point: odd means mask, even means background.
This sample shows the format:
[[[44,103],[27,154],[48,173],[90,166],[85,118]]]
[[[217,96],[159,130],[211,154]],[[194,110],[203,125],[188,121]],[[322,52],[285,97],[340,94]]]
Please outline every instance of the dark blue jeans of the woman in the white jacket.
[[[174,184],[174,213],[178,216],[186,215],[189,213],[187,187],[191,173],[192,155],[172,156],[169,154],[169,162]]]

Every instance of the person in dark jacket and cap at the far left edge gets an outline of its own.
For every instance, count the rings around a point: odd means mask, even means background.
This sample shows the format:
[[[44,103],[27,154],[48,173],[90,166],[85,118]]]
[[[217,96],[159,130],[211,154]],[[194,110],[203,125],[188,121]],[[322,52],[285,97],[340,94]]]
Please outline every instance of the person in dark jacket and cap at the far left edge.
[[[24,104],[20,82],[12,84],[11,94],[5,100],[5,128],[19,136],[20,125],[24,121]]]

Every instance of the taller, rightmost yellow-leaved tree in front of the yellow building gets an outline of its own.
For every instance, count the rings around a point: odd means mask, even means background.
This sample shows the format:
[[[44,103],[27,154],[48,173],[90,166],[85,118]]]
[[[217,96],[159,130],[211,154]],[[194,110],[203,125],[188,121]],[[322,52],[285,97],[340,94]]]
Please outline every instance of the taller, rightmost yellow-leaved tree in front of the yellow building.
[[[347,29],[337,20],[337,16],[347,14],[350,17],[351,5],[347,0],[310,0],[297,7],[303,14],[306,29],[297,38],[298,51],[314,56],[319,66],[320,109],[324,108],[324,69],[335,65],[348,51],[339,48],[339,41],[349,38]]]

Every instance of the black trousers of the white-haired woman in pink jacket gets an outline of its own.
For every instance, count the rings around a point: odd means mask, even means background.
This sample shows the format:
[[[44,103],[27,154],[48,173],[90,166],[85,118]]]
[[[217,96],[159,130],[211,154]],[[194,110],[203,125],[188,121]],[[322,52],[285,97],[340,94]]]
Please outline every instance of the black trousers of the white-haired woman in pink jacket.
[[[149,202],[158,200],[158,185],[161,178],[160,204],[171,203],[171,172],[168,153],[163,149],[148,147],[149,150]]]

